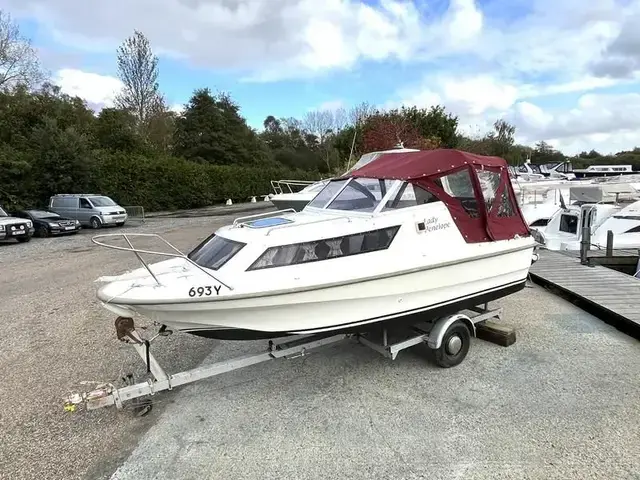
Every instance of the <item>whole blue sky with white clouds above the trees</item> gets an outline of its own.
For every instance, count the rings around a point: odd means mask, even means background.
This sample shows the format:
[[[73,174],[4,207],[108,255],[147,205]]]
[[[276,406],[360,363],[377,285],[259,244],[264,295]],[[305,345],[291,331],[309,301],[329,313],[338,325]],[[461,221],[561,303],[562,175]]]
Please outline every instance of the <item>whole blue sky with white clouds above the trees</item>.
[[[179,109],[225,91],[248,123],[314,109],[444,105],[461,130],[498,118],[571,155],[640,146],[640,0],[3,0],[64,92],[120,88],[134,30]]]

